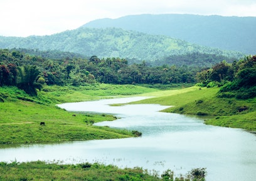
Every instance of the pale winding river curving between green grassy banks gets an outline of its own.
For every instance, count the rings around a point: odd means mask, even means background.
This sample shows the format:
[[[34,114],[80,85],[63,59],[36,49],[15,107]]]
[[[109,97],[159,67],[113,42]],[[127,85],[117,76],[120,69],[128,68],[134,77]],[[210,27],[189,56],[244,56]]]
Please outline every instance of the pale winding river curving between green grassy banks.
[[[142,167],[176,175],[205,167],[206,180],[255,180],[256,137],[240,129],[215,127],[203,120],[159,112],[168,106],[136,104],[109,106],[146,97],[103,99],[58,105],[70,111],[115,114],[120,119],[100,122],[118,129],[139,130],[142,137],[90,140],[0,149],[0,161],[100,162],[119,167]]]

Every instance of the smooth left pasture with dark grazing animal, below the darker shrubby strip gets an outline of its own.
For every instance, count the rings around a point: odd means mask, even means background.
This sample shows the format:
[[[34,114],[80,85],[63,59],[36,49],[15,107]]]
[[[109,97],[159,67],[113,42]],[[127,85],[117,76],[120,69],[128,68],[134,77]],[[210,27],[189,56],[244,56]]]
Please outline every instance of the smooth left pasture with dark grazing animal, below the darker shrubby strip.
[[[1,103],[3,104],[3,103]],[[112,115],[67,112],[55,105],[18,100],[0,105],[0,144],[33,144],[73,140],[131,137],[125,130],[95,127],[93,122],[114,120]],[[72,116],[75,114],[76,116]],[[45,126],[40,125],[45,122]]]

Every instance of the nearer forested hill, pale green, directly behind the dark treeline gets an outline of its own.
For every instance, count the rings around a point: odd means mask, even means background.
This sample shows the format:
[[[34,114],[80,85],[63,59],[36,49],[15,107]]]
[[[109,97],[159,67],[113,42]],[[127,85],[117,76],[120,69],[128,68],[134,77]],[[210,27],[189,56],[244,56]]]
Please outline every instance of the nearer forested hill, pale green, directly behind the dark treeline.
[[[100,58],[122,57],[136,62],[144,60],[162,61],[169,56],[191,54],[193,52],[225,56],[228,59],[243,57],[243,54],[238,52],[223,51],[189,44],[186,41],[167,36],[149,35],[117,28],[95,29],[81,27],[51,36],[0,37],[0,48],[10,49],[14,47],[41,51],[66,51],[87,57],[94,55]],[[211,66],[212,63],[208,64],[208,66]]]

